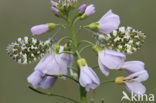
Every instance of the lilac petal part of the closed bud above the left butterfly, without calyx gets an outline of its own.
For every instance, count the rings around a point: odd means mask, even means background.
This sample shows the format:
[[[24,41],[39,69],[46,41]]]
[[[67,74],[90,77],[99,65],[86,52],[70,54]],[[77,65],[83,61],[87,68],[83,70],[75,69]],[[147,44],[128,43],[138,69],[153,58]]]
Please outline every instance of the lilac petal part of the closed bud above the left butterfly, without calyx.
[[[49,28],[46,24],[37,25],[31,28],[32,35],[41,35],[48,32]]]

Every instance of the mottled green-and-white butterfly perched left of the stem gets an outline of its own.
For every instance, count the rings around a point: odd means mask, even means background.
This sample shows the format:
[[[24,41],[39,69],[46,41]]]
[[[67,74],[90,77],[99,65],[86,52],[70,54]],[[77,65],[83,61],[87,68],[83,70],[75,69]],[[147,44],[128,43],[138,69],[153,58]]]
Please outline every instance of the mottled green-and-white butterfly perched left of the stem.
[[[19,64],[32,63],[49,51],[51,41],[40,41],[35,38],[18,38],[7,47],[9,56]]]

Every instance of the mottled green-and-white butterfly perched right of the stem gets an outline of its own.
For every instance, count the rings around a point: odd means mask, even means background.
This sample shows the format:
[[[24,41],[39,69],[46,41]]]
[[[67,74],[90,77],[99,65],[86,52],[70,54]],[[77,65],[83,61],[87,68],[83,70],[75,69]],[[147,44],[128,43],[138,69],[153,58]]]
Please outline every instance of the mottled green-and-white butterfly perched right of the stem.
[[[118,52],[132,54],[144,43],[145,35],[132,27],[119,27],[110,34],[97,34],[97,44],[102,48],[112,49]]]

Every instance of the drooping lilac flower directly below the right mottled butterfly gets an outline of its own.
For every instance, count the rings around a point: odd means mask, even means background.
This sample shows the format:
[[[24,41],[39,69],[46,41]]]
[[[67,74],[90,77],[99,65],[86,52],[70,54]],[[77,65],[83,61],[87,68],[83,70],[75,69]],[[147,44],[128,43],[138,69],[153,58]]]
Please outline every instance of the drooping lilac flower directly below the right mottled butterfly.
[[[98,52],[98,64],[105,76],[109,75],[108,69],[120,69],[126,56],[123,53],[105,49]]]

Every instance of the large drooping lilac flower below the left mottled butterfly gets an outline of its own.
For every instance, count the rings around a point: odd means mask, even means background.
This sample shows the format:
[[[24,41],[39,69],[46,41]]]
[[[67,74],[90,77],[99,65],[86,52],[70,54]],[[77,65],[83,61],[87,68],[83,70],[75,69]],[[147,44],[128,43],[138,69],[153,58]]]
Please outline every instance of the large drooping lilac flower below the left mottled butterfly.
[[[60,48],[63,48],[62,46]],[[61,49],[60,51],[61,52]],[[56,81],[55,77],[45,76],[45,74],[59,75],[67,74],[67,66],[71,63],[71,55],[68,54],[46,54],[40,62],[36,65],[34,72],[28,77],[28,82],[31,83],[35,88],[39,86],[48,89]],[[65,77],[63,77],[65,79]]]

